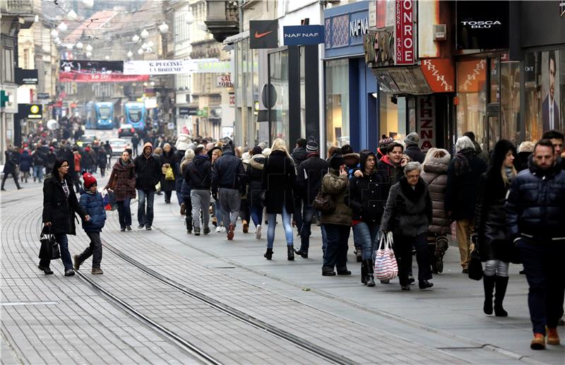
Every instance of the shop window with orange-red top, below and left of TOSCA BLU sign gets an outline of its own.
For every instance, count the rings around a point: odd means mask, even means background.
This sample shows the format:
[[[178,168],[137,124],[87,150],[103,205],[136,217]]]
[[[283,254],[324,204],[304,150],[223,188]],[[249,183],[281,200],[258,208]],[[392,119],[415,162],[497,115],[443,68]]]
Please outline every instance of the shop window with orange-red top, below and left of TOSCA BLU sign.
[[[457,133],[472,131],[477,143],[487,150],[485,126],[487,110],[487,60],[474,59],[457,63]]]

